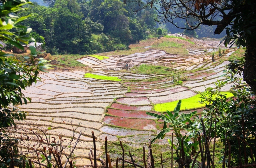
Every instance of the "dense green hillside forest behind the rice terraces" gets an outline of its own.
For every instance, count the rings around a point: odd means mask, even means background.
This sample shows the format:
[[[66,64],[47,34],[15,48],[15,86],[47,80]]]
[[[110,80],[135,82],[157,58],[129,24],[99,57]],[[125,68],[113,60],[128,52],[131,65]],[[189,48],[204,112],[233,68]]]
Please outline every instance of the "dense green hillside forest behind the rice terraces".
[[[124,4],[121,0],[44,0],[33,4],[18,12],[19,17],[31,15],[20,24],[31,27],[28,36],[43,43],[43,49],[51,55],[126,50],[132,43],[158,36],[157,29],[161,29],[163,34],[224,36],[214,35],[214,27],[204,25],[197,30],[184,32],[170,23],[158,24],[155,9],[147,7],[132,13],[129,9],[135,8],[136,3]],[[177,22],[185,24],[179,20]]]

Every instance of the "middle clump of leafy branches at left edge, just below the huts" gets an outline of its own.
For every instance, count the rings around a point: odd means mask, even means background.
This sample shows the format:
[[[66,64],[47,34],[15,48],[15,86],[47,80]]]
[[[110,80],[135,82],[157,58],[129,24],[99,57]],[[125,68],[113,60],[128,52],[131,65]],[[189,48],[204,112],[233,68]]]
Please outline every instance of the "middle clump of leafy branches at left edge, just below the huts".
[[[45,71],[49,68],[47,60],[42,58],[36,59],[38,52],[35,47],[30,46],[31,56],[27,57],[27,62],[20,62],[15,57],[6,56],[1,53],[0,57],[0,109],[6,109],[9,104],[27,104],[27,100],[31,101],[30,98],[25,98],[22,93],[22,89],[31,86],[34,82],[39,79],[39,71]],[[7,113],[7,114],[6,114]],[[15,116],[15,118],[12,117]],[[23,115],[12,114],[10,111],[2,111],[1,123],[7,125],[13,124],[13,119],[22,119]],[[9,121],[8,121],[9,120]],[[5,126],[7,126],[5,125]],[[4,125],[3,125],[4,126]]]

